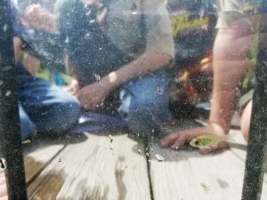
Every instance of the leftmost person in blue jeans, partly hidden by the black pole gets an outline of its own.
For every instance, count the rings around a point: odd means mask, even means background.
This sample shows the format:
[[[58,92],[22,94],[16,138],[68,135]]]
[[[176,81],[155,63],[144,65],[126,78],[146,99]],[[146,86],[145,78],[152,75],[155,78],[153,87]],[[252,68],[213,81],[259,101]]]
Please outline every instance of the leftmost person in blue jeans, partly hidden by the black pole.
[[[79,102],[68,92],[37,78],[39,61],[28,55],[24,64],[19,61],[21,32],[26,29],[20,24],[19,12],[12,2],[14,57],[17,64],[17,88],[21,139],[26,140],[35,131],[62,133],[77,123],[80,115]],[[1,34],[1,32],[0,32]],[[23,34],[25,36],[25,34]],[[4,172],[0,172],[0,198],[8,199]]]

